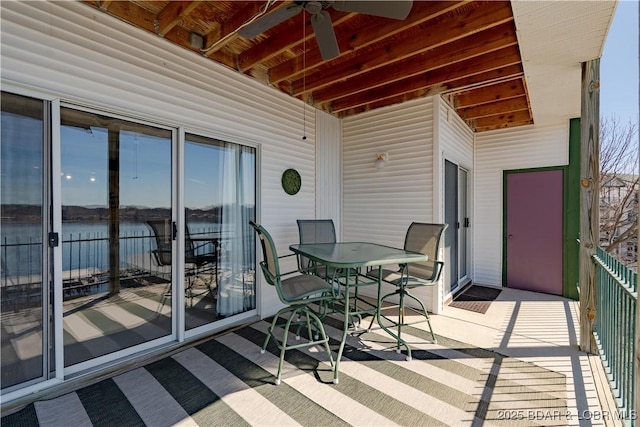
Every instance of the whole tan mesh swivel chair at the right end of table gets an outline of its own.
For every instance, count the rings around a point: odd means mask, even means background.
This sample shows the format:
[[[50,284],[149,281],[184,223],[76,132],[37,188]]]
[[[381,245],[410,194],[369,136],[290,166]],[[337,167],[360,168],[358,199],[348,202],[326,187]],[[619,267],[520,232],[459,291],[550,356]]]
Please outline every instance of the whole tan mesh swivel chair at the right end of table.
[[[380,312],[380,317],[391,322],[392,327],[398,328],[398,347],[396,351],[400,352],[400,339],[402,336],[403,326],[414,325],[416,323],[427,322],[429,330],[431,331],[431,337],[433,342],[437,342],[436,336],[433,333],[431,327],[431,321],[429,320],[429,313],[424,304],[418,297],[410,293],[411,289],[415,289],[422,286],[433,286],[440,280],[444,262],[438,260],[438,252],[440,249],[440,242],[444,230],[448,224],[429,224],[414,222],[412,223],[405,236],[404,249],[407,251],[420,252],[428,256],[428,260],[424,262],[414,262],[410,264],[400,265],[397,271],[382,270],[382,281],[391,283],[396,286],[396,290],[387,295],[380,297],[378,300],[378,310],[383,309],[383,303],[389,298],[397,298],[398,318],[397,320],[391,319]],[[371,270],[367,272],[367,276],[371,278],[378,278],[378,270]],[[417,303],[419,308],[414,308],[405,304],[405,300],[410,298]],[[394,305],[391,306],[393,308]],[[389,308],[389,307],[385,307]],[[407,323],[405,320],[405,312],[410,310],[417,313],[422,318],[417,321]],[[371,319],[369,329],[373,325],[374,318]],[[380,325],[383,329],[387,329],[385,326]],[[411,349],[407,346],[407,360],[411,360]]]

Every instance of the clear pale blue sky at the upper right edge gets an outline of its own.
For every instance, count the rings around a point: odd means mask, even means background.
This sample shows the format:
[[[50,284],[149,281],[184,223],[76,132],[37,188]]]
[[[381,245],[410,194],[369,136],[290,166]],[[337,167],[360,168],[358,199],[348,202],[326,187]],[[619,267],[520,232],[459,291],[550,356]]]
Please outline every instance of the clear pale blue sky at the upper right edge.
[[[638,123],[638,0],[618,2],[600,58],[600,116]]]

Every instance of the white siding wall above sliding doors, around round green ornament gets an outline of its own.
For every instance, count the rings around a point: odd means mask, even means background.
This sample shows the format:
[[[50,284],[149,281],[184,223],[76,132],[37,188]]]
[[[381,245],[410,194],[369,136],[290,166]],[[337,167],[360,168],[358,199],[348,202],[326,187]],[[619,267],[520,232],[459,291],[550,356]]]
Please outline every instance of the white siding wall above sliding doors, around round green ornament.
[[[298,241],[296,219],[316,214],[315,136],[324,132],[316,129],[312,108],[302,140],[301,102],[154,34],[81,2],[2,2],[1,8],[3,90],[21,88],[260,147],[258,219],[281,253]],[[335,122],[321,122],[337,133]],[[302,175],[294,196],[280,185],[290,167]],[[273,288],[261,291],[258,307],[273,314],[279,306]]]

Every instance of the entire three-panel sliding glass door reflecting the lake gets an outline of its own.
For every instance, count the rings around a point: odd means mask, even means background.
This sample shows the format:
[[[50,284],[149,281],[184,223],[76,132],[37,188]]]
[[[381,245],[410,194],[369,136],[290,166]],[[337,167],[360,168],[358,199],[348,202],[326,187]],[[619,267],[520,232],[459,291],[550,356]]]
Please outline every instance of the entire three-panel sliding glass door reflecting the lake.
[[[255,310],[254,147],[8,92],[1,136],[3,395]]]

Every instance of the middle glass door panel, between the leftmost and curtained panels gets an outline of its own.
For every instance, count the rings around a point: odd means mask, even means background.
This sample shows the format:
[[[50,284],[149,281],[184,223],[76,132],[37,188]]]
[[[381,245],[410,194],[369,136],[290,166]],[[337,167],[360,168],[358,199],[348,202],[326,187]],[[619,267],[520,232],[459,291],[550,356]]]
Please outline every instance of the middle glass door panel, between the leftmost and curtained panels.
[[[152,224],[172,224],[173,133],[71,108],[60,132],[71,366],[172,333],[172,236]]]

